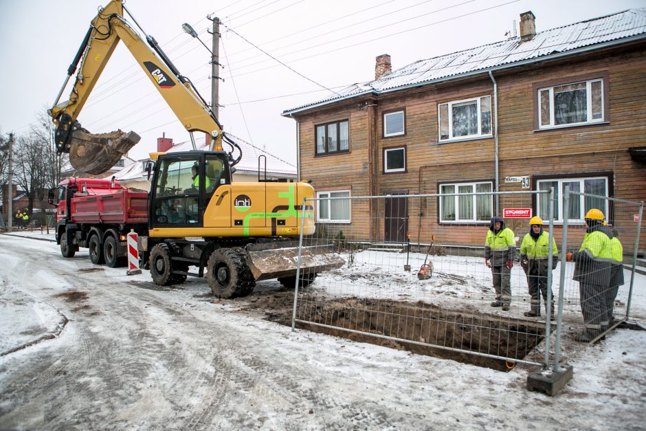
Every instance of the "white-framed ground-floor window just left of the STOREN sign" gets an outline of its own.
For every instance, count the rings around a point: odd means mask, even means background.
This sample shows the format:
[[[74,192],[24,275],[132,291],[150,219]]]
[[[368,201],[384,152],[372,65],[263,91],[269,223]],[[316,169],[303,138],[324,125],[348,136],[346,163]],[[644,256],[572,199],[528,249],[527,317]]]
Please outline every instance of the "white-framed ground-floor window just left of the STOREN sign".
[[[441,184],[441,195],[453,193],[491,193],[491,181]],[[441,196],[440,221],[449,223],[489,223],[493,214],[492,195]]]

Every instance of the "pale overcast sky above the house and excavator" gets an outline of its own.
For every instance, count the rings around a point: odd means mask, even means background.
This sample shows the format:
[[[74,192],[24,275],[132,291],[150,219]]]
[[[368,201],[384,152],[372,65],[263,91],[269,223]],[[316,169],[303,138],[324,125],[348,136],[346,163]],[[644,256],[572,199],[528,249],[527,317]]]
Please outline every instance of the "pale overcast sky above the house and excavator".
[[[97,8],[107,0],[0,0],[0,131],[26,133],[54,103],[67,67]],[[226,27],[220,45],[219,120],[225,131],[296,163],[296,122],[285,109],[330,91],[374,79],[375,57],[392,68],[500,41],[531,10],[540,32],[629,8],[645,0],[129,0],[126,8],[179,71],[210,102],[210,54],[181,30],[190,23],[209,47],[211,22],[223,24],[278,58],[303,78]],[[73,80],[72,80],[73,81]],[[69,97],[69,87],[62,100]],[[238,103],[239,102],[239,103]],[[166,102],[120,45],[78,120],[93,133],[136,131],[131,157],[155,151],[157,137],[189,139]],[[199,139],[202,139],[200,137]]]

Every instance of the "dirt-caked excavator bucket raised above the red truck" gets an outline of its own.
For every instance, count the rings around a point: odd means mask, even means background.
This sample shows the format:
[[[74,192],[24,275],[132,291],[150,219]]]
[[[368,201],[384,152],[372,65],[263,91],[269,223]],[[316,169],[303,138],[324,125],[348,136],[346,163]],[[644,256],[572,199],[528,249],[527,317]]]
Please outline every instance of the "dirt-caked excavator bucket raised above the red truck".
[[[140,139],[132,131],[94,134],[78,129],[69,140],[69,162],[79,172],[98,175],[115,166]]]

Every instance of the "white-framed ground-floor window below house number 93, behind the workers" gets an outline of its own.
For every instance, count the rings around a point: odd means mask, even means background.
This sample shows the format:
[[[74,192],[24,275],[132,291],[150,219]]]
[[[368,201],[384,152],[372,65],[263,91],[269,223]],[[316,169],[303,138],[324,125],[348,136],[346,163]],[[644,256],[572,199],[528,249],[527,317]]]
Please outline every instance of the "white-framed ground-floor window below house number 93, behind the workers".
[[[549,191],[550,188],[554,188],[554,221],[560,223],[564,220],[563,195],[566,186],[570,186],[572,192],[608,197],[608,177],[539,179],[537,181],[538,190]],[[537,212],[542,219],[549,220],[549,199],[548,194],[539,195]],[[583,223],[583,217],[592,208],[601,210],[608,217],[608,200],[601,197],[570,195],[570,208],[569,221]]]

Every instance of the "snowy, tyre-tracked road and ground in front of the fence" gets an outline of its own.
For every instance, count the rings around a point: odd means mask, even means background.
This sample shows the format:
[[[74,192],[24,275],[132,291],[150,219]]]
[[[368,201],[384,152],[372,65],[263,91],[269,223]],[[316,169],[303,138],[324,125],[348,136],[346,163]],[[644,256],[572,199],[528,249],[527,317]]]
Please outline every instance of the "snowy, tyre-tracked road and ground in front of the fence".
[[[158,287],[52,240],[0,235],[0,429],[644,429],[646,331],[569,345],[574,377],[548,397],[526,390],[528,366],[292,333],[243,311],[254,295]],[[635,287],[644,322],[646,278]]]

